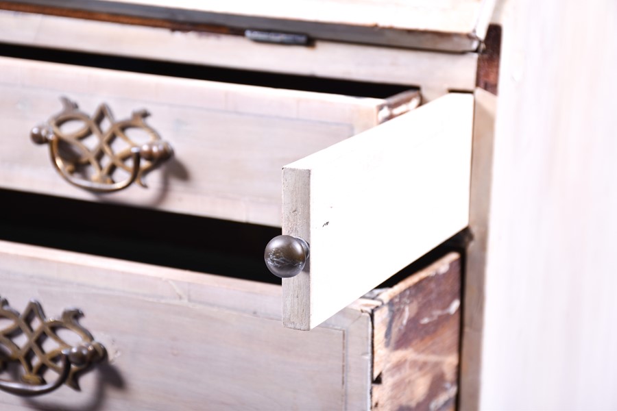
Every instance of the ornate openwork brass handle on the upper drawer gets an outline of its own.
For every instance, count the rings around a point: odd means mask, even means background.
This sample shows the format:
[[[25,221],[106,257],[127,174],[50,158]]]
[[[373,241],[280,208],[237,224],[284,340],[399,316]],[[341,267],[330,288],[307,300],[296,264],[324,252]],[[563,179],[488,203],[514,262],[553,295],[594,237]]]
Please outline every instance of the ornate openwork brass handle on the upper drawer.
[[[77,103],[60,98],[63,109],[52,116],[44,125],[38,125],[30,132],[36,144],[49,144],[51,163],[60,175],[74,186],[93,192],[114,192],[127,188],[133,182],[145,187],[142,177],[160,162],[171,158],[173,149],[161,140],[158,133],[145,123],[149,116],[146,110],[133,112],[128,120],[115,121],[105,103],[99,105],[90,118],[77,107]],[[76,131],[62,132],[62,125],[79,121],[84,126]],[[101,125],[108,122],[107,129]],[[126,131],[141,129],[149,141],[138,145],[131,140]],[[88,148],[84,140],[95,138],[93,148]],[[112,144],[120,139],[125,147],[114,151]],[[143,161],[145,160],[145,161]],[[119,170],[128,177],[116,182],[114,173]]]

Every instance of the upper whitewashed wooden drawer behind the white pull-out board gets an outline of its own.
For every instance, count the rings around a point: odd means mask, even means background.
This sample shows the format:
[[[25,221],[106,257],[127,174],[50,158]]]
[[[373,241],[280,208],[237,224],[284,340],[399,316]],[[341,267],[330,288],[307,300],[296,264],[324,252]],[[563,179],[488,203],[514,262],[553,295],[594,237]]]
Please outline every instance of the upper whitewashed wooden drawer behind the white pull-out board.
[[[283,165],[377,125],[393,102],[409,103],[13,58],[0,58],[0,71],[3,188],[274,226]],[[117,120],[147,108],[147,123],[174,158],[147,175],[147,189],[95,195],[67,184],[49,149],[29,139],[32,127],[60,112],[60,96],[91,114],[106,102]]]

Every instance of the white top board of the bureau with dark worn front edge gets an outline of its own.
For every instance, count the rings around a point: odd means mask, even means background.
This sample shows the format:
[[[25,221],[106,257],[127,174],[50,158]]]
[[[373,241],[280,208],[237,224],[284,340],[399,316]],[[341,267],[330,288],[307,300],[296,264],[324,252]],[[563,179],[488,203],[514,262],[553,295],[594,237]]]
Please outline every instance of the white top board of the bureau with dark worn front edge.
[[[0,1],[0,7],[11,5],[300,33],[322,40],[473,51],[485,36],[494,0]]]

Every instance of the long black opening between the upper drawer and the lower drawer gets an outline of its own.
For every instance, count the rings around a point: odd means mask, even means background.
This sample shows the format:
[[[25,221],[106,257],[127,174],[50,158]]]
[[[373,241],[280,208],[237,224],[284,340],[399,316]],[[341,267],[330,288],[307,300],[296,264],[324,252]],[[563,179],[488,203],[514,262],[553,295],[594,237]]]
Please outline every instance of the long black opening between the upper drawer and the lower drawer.
[[[280,228],[0,190],[0,240],[280,284],[263,249]],[[457,234],[381,284],[394,286],[450,251]],[[2,267],[0,266],[0,272]]]

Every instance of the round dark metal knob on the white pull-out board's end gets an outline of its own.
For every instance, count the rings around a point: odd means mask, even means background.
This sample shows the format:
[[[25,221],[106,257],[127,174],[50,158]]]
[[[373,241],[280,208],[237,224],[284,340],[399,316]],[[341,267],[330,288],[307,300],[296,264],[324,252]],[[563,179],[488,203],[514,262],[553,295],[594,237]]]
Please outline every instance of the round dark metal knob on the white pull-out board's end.
[[[277,277],[295,277],[309,258],[309,244],[302,238],[276,236],[268,242],[263,258],[270,272]]]

